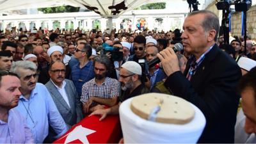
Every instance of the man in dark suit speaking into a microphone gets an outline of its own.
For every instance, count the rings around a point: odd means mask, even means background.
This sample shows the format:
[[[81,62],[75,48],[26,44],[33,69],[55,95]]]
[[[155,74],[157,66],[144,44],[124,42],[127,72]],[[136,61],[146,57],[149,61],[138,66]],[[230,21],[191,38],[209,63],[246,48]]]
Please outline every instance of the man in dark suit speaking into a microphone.
[[[241,70],[216,45],[218,17],[206,10],[189,13],[183,29],[184,51],[191,54],[184,74],[173,49],[157,54],[168,76],[164,85],[204,113],[206,125],[198,143],[234,143]]]

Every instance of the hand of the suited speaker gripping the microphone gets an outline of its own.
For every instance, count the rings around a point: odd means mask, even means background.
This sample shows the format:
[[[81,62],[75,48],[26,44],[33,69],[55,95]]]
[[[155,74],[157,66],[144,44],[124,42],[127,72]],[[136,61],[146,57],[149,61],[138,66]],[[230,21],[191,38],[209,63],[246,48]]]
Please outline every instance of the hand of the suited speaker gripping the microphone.
[[[157,57],[161,60],[164,72],[167,76],[180,70],[179,60],[171,47],[166,47],[166,49],[157,54]]]

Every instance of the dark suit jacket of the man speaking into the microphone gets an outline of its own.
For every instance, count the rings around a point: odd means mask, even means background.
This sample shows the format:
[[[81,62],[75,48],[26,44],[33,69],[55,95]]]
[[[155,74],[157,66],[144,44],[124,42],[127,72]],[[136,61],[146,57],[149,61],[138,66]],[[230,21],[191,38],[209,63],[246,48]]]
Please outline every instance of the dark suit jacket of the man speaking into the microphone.
[[[195,104],[204,113],[206,125],[198,143],[234,143],[240,68],[217,45],[205,54],[190,81],[186,79],[189,63],[191,61],[188,61],[184,75],[174,72],[164,85],[173,95]]]

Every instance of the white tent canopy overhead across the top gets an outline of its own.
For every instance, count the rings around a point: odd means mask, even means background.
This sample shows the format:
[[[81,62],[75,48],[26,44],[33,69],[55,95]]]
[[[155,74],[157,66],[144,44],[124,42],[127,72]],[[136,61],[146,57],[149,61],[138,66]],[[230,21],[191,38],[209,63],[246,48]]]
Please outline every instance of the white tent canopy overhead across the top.
[[[170,0],[0,0],[0,12],[20,10],[26,8],[46,8],[53,6],[70,5],[75,7],[87,8],[102,17],[118,17],[124,12],[133,10],[146,3],[160,3]],[[180,0],[186,1],[186,0]],[[202,4],[204,1],[198,0]],[[201,5],[202,6],[202,5]]]

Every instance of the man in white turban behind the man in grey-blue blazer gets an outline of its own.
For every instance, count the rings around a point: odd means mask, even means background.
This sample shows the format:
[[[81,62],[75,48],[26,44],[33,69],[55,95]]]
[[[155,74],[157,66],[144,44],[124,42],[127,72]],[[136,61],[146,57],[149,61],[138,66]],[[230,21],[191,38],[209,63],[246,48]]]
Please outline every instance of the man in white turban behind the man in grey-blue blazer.
[[[47,51],[48,56],[51,58],[52,62],[62,61],[63,62],[63,48],[59,45],[54,45],[50,47]],[[66,65],[65,78],[68,79],[70,77],[71,68],[69,65]]]

